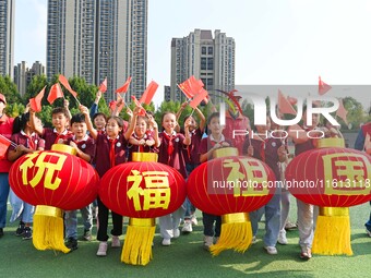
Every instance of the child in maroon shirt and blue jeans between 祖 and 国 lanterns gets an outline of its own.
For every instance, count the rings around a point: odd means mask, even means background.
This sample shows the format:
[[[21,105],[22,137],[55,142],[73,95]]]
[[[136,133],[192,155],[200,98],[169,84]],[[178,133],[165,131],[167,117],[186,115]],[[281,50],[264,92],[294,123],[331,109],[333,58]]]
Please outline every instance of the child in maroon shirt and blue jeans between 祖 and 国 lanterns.
[[[266,118],[266,125],[255,125],[258,133],[254,137],[247,138],[243,144],[243,155],[254,157],[266,162],[273,172],[276,180],[280,180],[280,171],[278,162],[286,160],[286,148],[280,138],[268,137],[271,129],[271,118]],[[270,255],[277,254],[276,243],[280,228],[280,188],[277,186],[275,194],[271,201],[263,207],[251,211],[250,220],[253,237],[258,232],[258,222],[262,215],[265,214],[265,235],[264,249]]]

